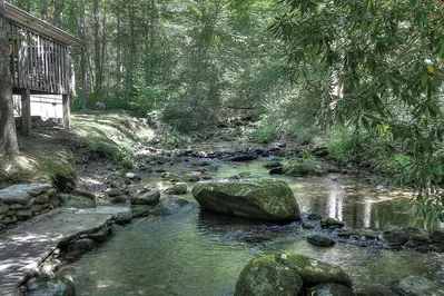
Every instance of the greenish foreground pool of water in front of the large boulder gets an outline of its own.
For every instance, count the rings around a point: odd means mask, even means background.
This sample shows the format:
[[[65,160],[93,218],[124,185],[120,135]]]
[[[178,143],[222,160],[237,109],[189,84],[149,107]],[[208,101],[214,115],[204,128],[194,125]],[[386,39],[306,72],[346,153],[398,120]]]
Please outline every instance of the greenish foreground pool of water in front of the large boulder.
[[[356,287],[408,275],[442,280],[441,254],[369,251],[337,244],[307,244],[297,225],[276,227],[191,209],[140,220],[73,265],[79,296],[233,295],[246,263],[275,251],[295,251],[342,266]]]

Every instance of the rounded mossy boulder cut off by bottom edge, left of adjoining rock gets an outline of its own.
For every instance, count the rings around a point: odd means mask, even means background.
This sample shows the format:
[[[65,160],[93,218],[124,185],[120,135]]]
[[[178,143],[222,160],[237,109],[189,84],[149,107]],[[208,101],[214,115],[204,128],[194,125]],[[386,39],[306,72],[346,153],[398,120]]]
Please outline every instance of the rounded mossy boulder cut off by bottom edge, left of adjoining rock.
[[[294,296],[300,293],[303,280],[290,268],[264,256],[250,260],[236,283],[235,296]]]

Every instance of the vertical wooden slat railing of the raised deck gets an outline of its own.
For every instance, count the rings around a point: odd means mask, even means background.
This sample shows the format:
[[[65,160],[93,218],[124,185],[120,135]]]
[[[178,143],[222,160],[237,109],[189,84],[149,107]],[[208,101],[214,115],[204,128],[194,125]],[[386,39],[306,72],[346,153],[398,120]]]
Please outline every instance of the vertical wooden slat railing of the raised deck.
[[[71,70],[68,47],[9,23],[9,56],[14,89],[68,95]]]

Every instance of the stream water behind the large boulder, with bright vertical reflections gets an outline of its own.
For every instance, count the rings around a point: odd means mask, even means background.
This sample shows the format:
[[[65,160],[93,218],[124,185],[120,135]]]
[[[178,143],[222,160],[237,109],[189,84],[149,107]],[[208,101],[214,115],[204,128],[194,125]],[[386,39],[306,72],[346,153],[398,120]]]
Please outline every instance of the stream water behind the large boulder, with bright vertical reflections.
[[[303,213],[337,218],[352,228],[384,229],[408,226],[414,220],[411,203],[402,193],[379,193],[374,185],[339,174],[306,178],[270,176],[262,165],[260,161],[227,164],[220,166],[213,176],[217,180],[248,171],[255,178],[284,180],[293,189]],[[180,176],[191,170],[196,170],[196,167],[189,164],[168,167],[168,171]],[[141,184],[156,182],[152,178],[145,178]],[[193,199],[190,194],[188,197]]]

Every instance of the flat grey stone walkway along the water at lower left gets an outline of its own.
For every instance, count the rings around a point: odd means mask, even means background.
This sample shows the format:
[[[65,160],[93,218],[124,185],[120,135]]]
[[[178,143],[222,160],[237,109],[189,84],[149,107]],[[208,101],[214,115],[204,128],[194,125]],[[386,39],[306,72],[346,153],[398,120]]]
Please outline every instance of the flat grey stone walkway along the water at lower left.
[[[32,218],[0,236],[0,295],[20,295],[18,286],[50,255],[60,241],[95,233],[127,207],[55,209]]]

